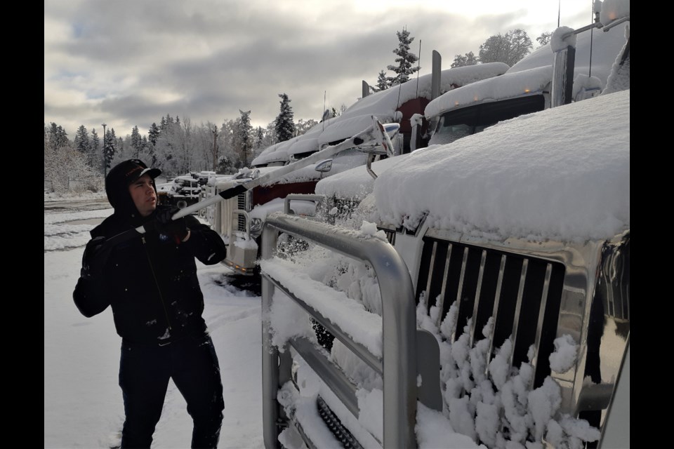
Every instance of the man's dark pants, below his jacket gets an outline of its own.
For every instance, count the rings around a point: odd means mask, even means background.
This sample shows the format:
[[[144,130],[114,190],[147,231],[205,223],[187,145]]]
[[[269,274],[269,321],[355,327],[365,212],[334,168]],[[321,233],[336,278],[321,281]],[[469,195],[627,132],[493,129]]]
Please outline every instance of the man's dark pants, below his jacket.
[[[192,448],[215,448],[223,422],[223,384],[211,337],[185,337],[166,346],[122,342],[119,386],[124,395],[122,448],[149,448],[169,379],[192,417]]]

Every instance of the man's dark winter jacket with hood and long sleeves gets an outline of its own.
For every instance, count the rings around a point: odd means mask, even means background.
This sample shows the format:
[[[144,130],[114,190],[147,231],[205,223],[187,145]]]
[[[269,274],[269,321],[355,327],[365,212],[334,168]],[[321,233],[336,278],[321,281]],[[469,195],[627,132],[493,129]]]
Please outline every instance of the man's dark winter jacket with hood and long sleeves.
[[[113,168],[106,177],[105,188],[114,214],[91,231],[92,238],[110,239],[151,222],[157,211],[167,207],[157,206],[152,215],[140,217],[128,194],[127,181],[117,176],[120,171]],[[164,344],[188,333],[202,335],[206,330],[201,318],[204,296],[194,257],[204,264],[216,264],[225,258],[225,243],[191,215],[185,220],[190,229],[185,242],[176,243],[171,237],[150,230],[117,243],[103,274],[77,281],[73,298],[79,311],[93,316],[112,306],[117,333],[128,342]]]

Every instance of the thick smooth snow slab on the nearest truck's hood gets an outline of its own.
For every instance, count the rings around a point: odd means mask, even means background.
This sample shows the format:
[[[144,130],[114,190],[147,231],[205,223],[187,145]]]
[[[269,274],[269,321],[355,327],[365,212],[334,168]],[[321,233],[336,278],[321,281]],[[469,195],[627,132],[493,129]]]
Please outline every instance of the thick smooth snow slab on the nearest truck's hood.
[[[630,91],[503,121],[378,173],[381,219],[495,239],[583,241],[630,227]],[[397,158],[394,158],[397,159]]]

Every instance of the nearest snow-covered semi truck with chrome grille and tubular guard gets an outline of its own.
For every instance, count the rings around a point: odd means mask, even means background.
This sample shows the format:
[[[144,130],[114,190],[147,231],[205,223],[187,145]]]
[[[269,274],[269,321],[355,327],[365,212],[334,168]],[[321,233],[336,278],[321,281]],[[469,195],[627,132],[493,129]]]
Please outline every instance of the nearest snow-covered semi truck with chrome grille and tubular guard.
[[[601,95],[571,101],[557,30],[566,104],[322,180],[369,178],[337,225],[267,216],[267,448],[630,446],[629,5],[607,6]]]

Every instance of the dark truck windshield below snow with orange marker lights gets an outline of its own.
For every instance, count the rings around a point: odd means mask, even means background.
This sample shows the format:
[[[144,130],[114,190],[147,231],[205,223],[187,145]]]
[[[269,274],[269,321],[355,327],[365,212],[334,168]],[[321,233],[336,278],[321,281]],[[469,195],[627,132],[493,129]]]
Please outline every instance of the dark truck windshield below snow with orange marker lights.
[[[467,135],[480,133],[484,128],[499,121],[542,111],[545,104],[543,95],[529,95],[445,112],[437,123],[429,145],[447,144]]]

